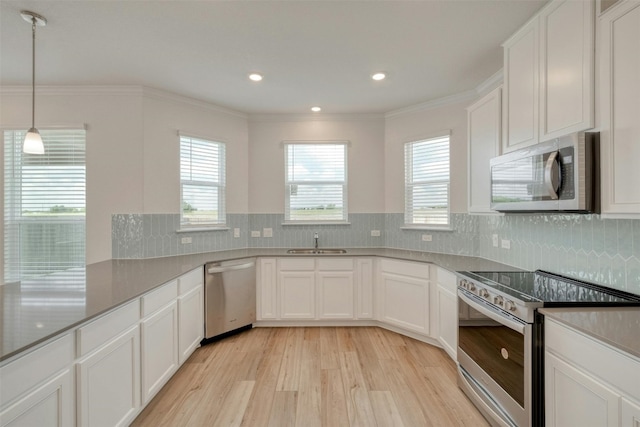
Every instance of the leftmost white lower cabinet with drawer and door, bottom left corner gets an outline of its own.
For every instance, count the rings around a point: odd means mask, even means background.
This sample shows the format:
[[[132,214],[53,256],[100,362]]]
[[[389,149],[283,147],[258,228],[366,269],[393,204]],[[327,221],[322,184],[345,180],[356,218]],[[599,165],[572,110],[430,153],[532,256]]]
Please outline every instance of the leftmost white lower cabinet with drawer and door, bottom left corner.
[[[0,426],[75,425],[73,336],[67,334],[0,368]]]

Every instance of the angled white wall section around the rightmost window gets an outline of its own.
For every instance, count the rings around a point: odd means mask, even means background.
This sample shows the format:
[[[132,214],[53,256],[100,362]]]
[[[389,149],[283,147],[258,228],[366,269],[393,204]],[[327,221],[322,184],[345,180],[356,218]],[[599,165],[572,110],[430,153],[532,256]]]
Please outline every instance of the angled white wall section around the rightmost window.
[[[385,212],[404,212],[404,144],[451,131],[451,212],[467,212],[467,113],[473,100],[388,115],[385,126]]]

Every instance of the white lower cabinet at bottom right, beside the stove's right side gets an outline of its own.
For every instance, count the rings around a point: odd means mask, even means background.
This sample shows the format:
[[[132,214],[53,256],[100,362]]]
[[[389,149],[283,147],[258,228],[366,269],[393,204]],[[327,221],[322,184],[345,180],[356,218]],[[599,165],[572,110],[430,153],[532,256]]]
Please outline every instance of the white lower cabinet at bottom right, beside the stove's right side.
[[[545,425],[640,426],[640,359],[545,319]]]

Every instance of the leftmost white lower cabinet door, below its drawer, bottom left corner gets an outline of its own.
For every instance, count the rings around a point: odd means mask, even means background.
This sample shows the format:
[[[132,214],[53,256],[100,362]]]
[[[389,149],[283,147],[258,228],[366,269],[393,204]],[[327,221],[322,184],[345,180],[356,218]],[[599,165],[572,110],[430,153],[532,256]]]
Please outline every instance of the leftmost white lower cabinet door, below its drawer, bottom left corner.
[[[65,369],[0,412],[0,426],[71,427],[75,425],[73,402],[72,373]]]

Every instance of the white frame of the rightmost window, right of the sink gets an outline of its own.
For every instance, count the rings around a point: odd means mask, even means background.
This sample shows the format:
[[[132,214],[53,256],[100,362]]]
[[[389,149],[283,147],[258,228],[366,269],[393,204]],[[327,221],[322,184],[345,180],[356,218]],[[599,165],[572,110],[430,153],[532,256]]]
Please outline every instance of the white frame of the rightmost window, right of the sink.
[[[429,143],[440,143],[442,140],[447,141],[448,150],[448,173],[446,178],[438,176],[440,174],[434,172],[434,176],[427,176],[426,179],[415,179],[415,173],[413,170],[413,157],[416,155],[416,149],[420,146],[424,147]],[[426,138],[421,138],[416,141],[407,142],[404,144],[404,161],[405,161],[405,209],[404,209],[404,223],[405,228],[411,229],[436,229],[436,230],[451,230],[451,135],[450,132],[438,133]],[[416,188],[428,189],[428,192],[437,194],[443,191],[443,187],[446,191],[446,214],[444,217],[442,213],[436,213],[430,216],[428,214],[423,215],[424,221],[419,221],[415,215],[416,208],[420,208],[414,200],[414,194]],[[422,207],[426,207],[422,205]],[[426,218],[425,218],[426,217]],[[444,219],[444,220],[443,220]]]

